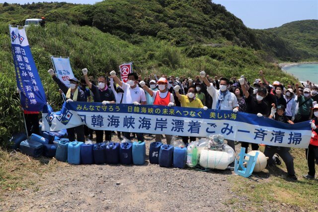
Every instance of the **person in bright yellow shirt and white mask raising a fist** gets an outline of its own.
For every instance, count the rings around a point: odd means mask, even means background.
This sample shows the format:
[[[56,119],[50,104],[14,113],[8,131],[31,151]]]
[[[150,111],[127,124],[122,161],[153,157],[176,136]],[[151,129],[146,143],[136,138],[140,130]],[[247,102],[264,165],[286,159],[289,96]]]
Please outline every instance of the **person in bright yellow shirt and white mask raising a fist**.
[[[194,86],[190,86],[188,88],[188,93],[187,95],[181,95],[179,93],[180,90],[180,86],[176,85],[174,86],[174,92],[175,95],[178,97],[180,103],[181,103],[181,107],[191,107],[191,108],[203,108],[203,110],[207,110],[208,108],[206,106],[203,106],[202,102],[200,99],[195,98],[195,93],[196,93],[196,89]],[[195,141],[196,137],[188,137],[188,136],[183,136],[182,137],[182,141],[184,143],[188,143],[188,140],[190,139],[190,141]]]

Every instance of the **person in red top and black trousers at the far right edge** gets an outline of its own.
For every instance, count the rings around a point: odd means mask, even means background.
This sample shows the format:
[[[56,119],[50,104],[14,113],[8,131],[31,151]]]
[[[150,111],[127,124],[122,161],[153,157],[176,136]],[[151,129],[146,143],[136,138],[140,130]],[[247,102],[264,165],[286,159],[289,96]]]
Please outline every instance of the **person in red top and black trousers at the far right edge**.
[[[315,118],[310,122],[312,128],[312,137],[309,142],[308,149],[306,149],[307,162],[308,162],[308,174],[303,177],[306,179],[314,179],[315,170],[315,160],[318,164],[318,104],[313,107],[313,112]]]

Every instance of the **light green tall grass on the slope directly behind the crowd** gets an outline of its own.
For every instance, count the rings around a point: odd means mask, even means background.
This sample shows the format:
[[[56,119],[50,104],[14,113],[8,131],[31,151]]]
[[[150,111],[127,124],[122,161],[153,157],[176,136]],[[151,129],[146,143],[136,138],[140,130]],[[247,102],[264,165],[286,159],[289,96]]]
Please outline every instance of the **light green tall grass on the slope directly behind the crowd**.
[[[277,66],[257,56],[263,52],[249,48],[207,47],[200,50],[205,51],[205,55],[196,57],[189,53],[188,49],[195,49],[192,47],[175,47],[167,41],[147,36],[139,37],[138,44],[134,45],[94,27],[66,23],[48,23],[45,28],[29,27],[27,36],[47,100],[56,110],[60,108],[62,99],[58,86],[47,73],[52,68],[52,55],[70,57],[77,78],[81,77],[83,68],[87,68],[88,74],[96,79],[100,73],[118,71],[120,64],[133,61],[134,71],[143,76],[157,73],[194,77],[205,70],[211,76],[245,74],[252,81],[259,77],[258,71],[262,69],[270,81],[295,81]],[[3,73],[0,74],[0,145],[5,145],[12,133],[23,130],[10,48],[8,25],[0,24],[0,71]]]

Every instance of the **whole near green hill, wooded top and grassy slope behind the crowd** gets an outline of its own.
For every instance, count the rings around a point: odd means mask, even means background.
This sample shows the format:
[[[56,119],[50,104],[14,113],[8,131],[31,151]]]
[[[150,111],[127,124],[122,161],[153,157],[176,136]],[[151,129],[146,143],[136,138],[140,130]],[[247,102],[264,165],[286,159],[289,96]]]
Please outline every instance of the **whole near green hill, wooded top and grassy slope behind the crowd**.
[[[277,45],[283,45],[273,52],[274,48],[260,44],[259,32],[246,28],[223,6],[209,1],[0,4],[0,70],[4,73],[0,74],[0,144],[12,132],[23,129],[14,94],[8,24],[23,25],[26,18],[43,15],[46,27],[29,27],[27,36],[48,102],[55,109],[61,97],[47,73],[52,68],[51,55],[70,57],[78,78],[85,67],[89,75],[96,76],[135,61],[134,70],[142,76],[164,73],[194,77],[205,70],[210,76],[244,74],[252,81],[262,69],[270,81],[296,82],[274,63],[279,55],[295,60],[297,51],[288,42],[277,38]],[[268,34],[269,41],[276,36]]]

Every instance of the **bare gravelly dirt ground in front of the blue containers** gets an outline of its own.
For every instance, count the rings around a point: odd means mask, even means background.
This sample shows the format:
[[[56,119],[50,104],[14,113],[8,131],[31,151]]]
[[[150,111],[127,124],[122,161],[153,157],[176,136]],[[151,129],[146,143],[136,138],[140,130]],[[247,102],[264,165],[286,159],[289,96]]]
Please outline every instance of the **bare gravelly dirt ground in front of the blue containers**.
[[[150,164],[148,152],[152,141],[154,137],[146,137],[145,165],[64,164],[55,172],[34,174],[36,183],[32,188],[4,193],[0,211],[256,210],[233,192],[228,179],[240,177],[234,171]],[[302,211],[268,202],[262,208],[263,211]]]

